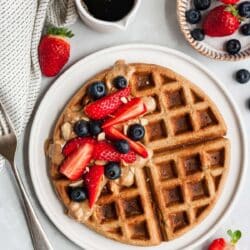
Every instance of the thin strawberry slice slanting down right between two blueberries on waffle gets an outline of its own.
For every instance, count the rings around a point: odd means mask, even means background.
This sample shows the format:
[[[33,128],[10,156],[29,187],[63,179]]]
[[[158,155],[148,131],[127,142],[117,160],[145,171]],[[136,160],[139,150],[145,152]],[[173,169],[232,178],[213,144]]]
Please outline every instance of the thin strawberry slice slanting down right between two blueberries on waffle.
[[[126,135],[124,135],[122,132],[120,132],[118,129],[116,129],[114,127],[108,127],[108,128],[105,128],[104,131],[105,131],[106,135],[108,137],[112,138],[112,139],[127,140],[127,142],[129,143],[131,149],[133,149],[137,154],[141,155],[144,158],[148,157],[148,151],[144,147],[144,145],[142,145],[141,143],[138,143],[138,142],[135,142],[135,141],[131,140]]]

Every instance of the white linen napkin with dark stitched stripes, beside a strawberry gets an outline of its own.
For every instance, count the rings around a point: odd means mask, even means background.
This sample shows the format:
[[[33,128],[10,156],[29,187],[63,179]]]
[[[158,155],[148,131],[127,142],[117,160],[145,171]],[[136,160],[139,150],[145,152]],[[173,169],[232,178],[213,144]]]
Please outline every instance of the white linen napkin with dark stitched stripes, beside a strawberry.
[[[67,26],[76,19],[74,0],[0,0],[0,100],[18,137],[40,90],[37,46],[43,26]]]

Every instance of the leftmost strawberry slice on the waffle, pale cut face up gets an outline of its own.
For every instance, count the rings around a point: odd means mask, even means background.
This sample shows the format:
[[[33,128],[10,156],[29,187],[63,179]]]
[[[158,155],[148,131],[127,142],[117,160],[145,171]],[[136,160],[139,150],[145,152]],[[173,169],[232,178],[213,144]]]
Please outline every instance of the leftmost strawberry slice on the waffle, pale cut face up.
[[[78,180],[88,163],[90,162],[94,151],[94,144],[86,142],[72,152],[62,163],[60,173],[64,174],[70,180]]]

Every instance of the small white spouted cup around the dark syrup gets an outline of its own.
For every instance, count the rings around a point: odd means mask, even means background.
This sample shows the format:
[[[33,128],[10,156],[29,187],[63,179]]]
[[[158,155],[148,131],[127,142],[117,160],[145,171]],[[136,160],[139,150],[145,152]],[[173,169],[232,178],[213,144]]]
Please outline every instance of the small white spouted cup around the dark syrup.
[[[133,18],[137,13],[137,10],[141,4],[141,0],[135,0],[134,6],[130,10],[130,12],[121,20],[116,22],[103,21],[93,17],[84,7],[83,0],[75,0],[75,4],[80,18],[90,28],[99,32],[115,32],[127,29],[128,25],[130,24],[130,22],[133,20]]]

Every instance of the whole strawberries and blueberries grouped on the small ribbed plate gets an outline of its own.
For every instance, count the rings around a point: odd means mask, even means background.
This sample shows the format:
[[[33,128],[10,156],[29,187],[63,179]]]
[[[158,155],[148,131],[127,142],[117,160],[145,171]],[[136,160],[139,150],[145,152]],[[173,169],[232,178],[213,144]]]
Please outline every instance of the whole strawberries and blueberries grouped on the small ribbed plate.
[[[237,33],[237,37],[223,40],[221,44],[229,55],[236,55],[241,51],[241,36],[250,35],[250,1],[191,0],[191,8],[186,11],[185,16],[191,26],[190,35],[196,41]]]

